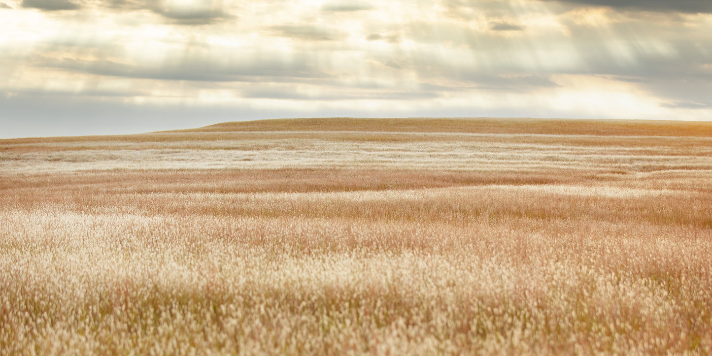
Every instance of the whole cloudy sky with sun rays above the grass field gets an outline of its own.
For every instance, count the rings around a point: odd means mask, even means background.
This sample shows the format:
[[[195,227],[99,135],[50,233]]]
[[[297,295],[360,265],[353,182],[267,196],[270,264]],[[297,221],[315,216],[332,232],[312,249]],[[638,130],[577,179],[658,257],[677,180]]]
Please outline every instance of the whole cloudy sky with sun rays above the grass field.
[[[0,138],[333,116],[712,120],[712,1],[0,0]]]

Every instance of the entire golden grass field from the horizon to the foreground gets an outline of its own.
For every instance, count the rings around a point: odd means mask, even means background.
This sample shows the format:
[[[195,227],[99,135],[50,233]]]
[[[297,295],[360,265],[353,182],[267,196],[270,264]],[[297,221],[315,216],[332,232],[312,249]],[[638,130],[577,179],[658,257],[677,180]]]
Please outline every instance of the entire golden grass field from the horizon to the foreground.
[[[712,123],[0,140],[0,354],[712,354]]]

